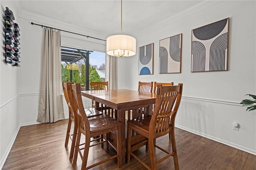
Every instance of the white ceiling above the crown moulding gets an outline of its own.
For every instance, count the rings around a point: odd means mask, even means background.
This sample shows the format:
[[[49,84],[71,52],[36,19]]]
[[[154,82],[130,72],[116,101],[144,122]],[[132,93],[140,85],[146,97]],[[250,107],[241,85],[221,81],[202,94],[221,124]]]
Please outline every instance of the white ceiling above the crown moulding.
[[[203,0],[123,0],[122,33],[135,36],[201,2]],[[120,34],[121,0],[19,0],[17,3],[21,12],[104,34]]]

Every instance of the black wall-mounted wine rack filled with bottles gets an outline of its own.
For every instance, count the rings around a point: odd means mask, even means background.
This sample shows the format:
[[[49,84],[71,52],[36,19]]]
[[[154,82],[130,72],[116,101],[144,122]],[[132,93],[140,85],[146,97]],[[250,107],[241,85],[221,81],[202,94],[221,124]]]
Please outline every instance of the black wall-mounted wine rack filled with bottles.
[[[6,7],[4,11],[4,62],[20,67],[20,28],[14,20],[12,11]]]

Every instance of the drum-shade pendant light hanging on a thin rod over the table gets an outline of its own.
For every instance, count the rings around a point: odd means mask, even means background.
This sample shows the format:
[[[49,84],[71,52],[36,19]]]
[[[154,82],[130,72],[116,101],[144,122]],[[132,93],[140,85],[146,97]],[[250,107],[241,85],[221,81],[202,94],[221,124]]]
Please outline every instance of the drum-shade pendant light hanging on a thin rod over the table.
[[[130,57],[136,54],[136,39],[122,34],[122,0],[121,0],[121,34],[107,38],[106,51],[108,55]]]

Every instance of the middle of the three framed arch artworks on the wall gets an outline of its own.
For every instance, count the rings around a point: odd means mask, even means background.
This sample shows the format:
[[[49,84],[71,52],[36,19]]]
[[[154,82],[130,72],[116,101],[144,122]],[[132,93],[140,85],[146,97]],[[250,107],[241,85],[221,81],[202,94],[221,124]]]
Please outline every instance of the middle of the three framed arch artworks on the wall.
[[[182,34],[160,40],[159,73],[181,73]]]

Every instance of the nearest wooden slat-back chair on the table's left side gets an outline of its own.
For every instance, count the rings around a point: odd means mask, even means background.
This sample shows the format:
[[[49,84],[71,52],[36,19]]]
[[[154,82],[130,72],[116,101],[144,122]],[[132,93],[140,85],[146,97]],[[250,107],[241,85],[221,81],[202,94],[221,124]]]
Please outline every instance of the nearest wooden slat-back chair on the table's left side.
[[[72,99],[70,99],[70,103],[72,106],[72,109],[74,110],[74,114],[76,119],[78,119],[78,134],[76,138],[76,148],[74,152],[74,159],[73,163],[76,163],[78,152],[79,155],[82,158],[82,166],[81,169],[90,169],[94,166],[97,166],[99,164],[102,164],[108,160],[117,158],[118,167],[121,166],[120,161],[120,154],[121,154],[121,123],[117,121],[116,119],[111,118],[109,115],[100,115],[97,117],[92,117],[88,119],[86,116],[86,111],[84,111],[84,106],[82,103],[82,95],[81,95],[81,87],[79,83],[72,84]],[[114,156],[110,156],[109,158],[106,158],[104,160],[101,160],[100,162],[97,162],[93,165],[87,166],[87,160],[88,160],[88,153],[89,148],[91,146],[95,146],[98,144],[102,144],[104,142],[108,143],[109,140],[106,137],[106,140],[97,142],[96,144],[93,143],[90,145],[91,141],[90,138],[99,136],[102,134],[107,134],[109,132],[116,131],[117,136],[117,146],[114,149],[116,150],[117,154]],[[81,135],[84,134],[85,136],[85,145],[84,148],[80,148],[80,138]],[[95,141],[94,141],[95,142]],[[84,153],[82,154],[82,151],[84,149]],[[94,153],[94,155],[97,153]],[[101,157],[102,155],[98,154],[98,157]]]

